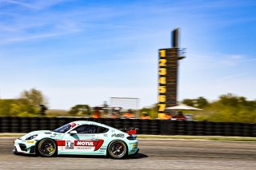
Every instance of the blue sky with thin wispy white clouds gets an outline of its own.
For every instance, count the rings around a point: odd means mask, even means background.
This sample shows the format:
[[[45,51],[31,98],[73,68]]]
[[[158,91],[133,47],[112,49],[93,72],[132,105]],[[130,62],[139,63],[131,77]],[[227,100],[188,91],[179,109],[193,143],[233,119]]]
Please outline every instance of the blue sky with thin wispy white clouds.
[[[181,28],[178,99],[255,100],[256,2],[0,0],[0,97],[42,90],[50,109],[109,97],[156,103],[158,49]]]

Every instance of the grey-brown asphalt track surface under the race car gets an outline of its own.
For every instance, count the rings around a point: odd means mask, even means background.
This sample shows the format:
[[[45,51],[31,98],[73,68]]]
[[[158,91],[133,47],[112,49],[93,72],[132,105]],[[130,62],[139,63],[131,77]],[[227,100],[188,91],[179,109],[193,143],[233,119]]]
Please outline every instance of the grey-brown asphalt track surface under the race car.
[[[0,169],[256,169],[256,142],[139,140],[126,160],[98,156],[17,156],[14,138],[0,138]]]

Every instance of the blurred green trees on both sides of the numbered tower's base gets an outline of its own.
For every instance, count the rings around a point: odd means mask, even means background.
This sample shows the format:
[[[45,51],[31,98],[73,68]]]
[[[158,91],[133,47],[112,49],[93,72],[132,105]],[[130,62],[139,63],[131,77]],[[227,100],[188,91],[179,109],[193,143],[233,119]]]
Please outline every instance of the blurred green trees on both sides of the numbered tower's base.
[[[256,123],[256,100],[248,101],[246,97],[227,93],[216,101],[208,101],[205,97],[183,99],[181,104],[203,109],[202,111],[184,111],[191,113],[194,121],[222,121]],[[158,105],[142,108],[140,113],[148,113],[151,118],[158,117]]]

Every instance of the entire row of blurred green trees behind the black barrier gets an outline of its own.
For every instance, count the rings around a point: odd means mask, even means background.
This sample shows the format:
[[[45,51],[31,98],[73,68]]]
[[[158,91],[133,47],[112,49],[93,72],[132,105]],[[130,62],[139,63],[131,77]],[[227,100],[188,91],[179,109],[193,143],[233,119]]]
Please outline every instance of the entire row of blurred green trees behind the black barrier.
[[[192,113],[195,121],[226,121],[256,123],[256,100],[248,101],[246,97],[227,93],[216,101],[208,101],[205,97],[184,99],[180,103],[190,105],[202,111]],[[24,90],[16,99],[0,99],[1,117],[54,117],[77,116],[90,117],[94,109],[90,105],[74,105],[68,111],[58,114],[48,110],[48,101],[38,89]],[[135,111],[134,111],[135,112]],[[158,117],[158,105],[154,104],[139,110],[154,119]]]

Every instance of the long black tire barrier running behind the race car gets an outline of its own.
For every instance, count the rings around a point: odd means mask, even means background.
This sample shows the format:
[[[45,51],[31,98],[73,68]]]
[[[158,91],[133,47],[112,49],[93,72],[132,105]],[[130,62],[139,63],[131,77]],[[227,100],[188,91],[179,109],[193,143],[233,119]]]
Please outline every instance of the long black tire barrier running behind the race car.
[[[256,136],[256,124],[74,117],[0,117],[0,132],[53,130],[71,121],[97,121],[114,128],[139,128],[139,134],[192,136]]]

